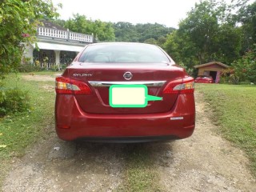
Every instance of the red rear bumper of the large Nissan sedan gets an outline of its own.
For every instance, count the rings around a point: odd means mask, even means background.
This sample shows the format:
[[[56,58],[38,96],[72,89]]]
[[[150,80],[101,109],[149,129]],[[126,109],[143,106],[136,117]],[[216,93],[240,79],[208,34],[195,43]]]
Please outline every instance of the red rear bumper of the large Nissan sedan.
[[[99,142],[152,142],[187,138],[193,134],[195,107],[193,94],[181,94],[167,113],[86,114],[72,95],[58,94],[55,128],[66,141],[84,138]]]

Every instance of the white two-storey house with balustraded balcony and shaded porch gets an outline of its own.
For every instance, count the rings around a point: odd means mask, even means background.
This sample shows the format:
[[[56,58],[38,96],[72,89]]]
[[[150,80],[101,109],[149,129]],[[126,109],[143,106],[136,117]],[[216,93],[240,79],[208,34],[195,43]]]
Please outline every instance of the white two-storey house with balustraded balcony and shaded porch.
[[[27,46],[24,52],[24,57],[40,66],[68,65],[84,46],[94,42],[93,35],[75,33],[48,21],[43,24],[37,29],[38,42]]]

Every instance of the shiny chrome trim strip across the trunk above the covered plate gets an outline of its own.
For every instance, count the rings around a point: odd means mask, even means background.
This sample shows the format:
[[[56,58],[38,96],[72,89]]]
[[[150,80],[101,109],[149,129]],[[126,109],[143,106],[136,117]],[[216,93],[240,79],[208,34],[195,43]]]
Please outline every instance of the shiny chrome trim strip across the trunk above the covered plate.
[[[89,81],[91,86],[113,86],[113,85],[145,85],[145,86],[162,86],[166,81],[142,81],[142,82],[94,82]]]

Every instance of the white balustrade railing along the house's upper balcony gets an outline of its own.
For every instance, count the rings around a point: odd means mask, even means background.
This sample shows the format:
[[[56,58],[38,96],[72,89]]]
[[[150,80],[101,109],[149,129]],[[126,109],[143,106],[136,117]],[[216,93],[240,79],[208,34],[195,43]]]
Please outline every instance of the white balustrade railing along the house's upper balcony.
[[[67,41],[73,40],[78,42],[94,42],[94,36],[90,34],[79,34],[71,31],[55,30],[42,26],[38,27],[38,36],[66,39]]]

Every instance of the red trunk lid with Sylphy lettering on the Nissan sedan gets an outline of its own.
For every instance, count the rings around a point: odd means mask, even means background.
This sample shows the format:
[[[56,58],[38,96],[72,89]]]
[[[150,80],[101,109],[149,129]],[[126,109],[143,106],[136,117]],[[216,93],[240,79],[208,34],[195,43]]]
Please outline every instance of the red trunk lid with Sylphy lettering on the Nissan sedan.
[[[128,75],[126,77],[127,72]],[[132,74],[130,80],[129,74]],[[81,109],[90,114],[151,114],[170,111],[178,94],[163,94],[162,90],[172,81],[182,79],[186,73],[181,67],[166,63],[80,63],[76,62],[63,74],[71,79],[86,82],[93,94],[75,95]],[[124,77],[125,76],[125,77]],[[146,85],[148,94],[162,97],[162,101],[150,101],[142,108],[114,108],[109,103],[111,85]]]

